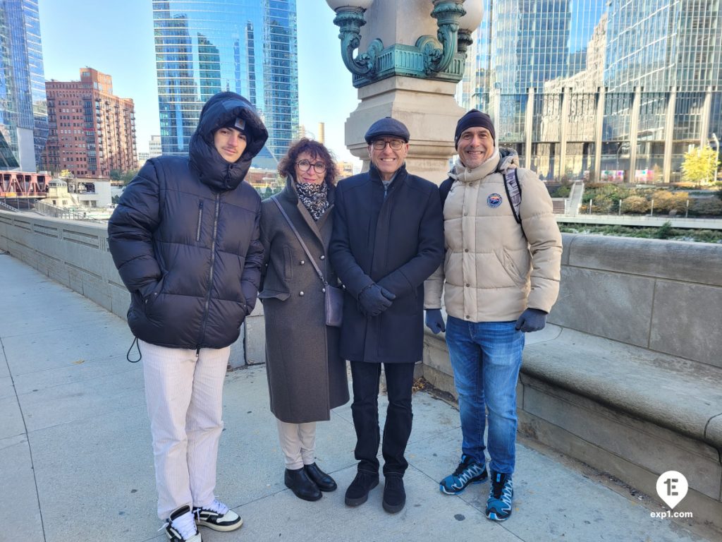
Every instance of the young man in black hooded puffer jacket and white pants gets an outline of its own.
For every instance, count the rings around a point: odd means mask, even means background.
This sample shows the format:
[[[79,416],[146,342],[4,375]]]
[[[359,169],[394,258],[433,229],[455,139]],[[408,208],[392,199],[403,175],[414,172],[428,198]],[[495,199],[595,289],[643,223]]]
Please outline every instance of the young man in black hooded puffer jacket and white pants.
[[[256,304],[261,199],[243,182],[268,132],[235,93],[210,98],[188,158],[148,160],[108,224],[131,293],[151,422],[158,516],[171,541],[242,520],[214,495],[230,345]]]

